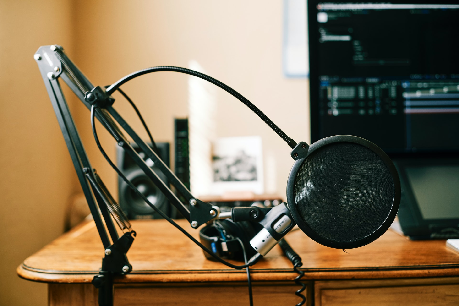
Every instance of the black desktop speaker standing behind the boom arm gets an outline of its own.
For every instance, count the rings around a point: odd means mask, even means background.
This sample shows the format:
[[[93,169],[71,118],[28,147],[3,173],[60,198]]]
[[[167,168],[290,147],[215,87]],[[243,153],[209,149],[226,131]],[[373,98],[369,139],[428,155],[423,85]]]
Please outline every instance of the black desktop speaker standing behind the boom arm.
[[[164,163],[169,167],[169,143],[157,142],[157,148],[159,150],[160,157]],[[150,166],[162,181],[169,185],[167,177],[155,167],[153,161],[148,158],[137,145],[133,145],[134,149],[139,155],[145,159],[146,164]],[[127,155],[123,148],[117,147],[117,165],[123,174],[129,179],[129,181],[143,193],[150,202],[157,208],[161,209],[169,217],[175,217],[176,210],[172,207],[166,198],[162,194],[161,190],[151,181],[150,178],[138,167],[135,162]],[[157,219],[160,218],[159,214],[155,212],[150,206],[148,206],[134,190],[129,188],[123,179],[118,178],[118,196],[119,205],[123,209],[124,213],[129,219]]]

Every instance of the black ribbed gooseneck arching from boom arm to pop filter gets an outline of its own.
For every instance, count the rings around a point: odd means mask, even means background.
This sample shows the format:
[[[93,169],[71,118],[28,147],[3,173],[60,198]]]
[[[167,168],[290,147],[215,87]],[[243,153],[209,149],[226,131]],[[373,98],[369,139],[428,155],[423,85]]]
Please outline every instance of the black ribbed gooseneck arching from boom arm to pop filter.
[[[197,71],[194,71],[194,70],[191,70],[191,69],[182,68],[182,67],[174,67],[174,66],[158,66],[158,67],[150,67],[150,68],[142,69],[142,70],[133,72],[131,74],[128,74],[127,76],[119,79],[116,83],[113,83],[112,85],[110,85],[106,89],[106,93],[107,93],[107,95],[112,95],[112,93],[115,90],[117,90],[118,87],[120,87],[124,83],[128,82],[129,80],[132,80],[133,78],[137,78],[137,77],[139,77],[141,75],[144,75],[144,74],[147,74],[147,73],[159,72],[159,71],[182,72],[182,73],[193,75],[193,76],[198,77],[198,78],[202,78],[202,79],[204,79],[204,80],[206,80],[206,81],[208,81],[210,83],[213,83],[213,84],[217,85],[218,87],[220,87],[221,89],[224,89],[229,94],[233,95],[235,98],[237,98],[242,103],[244,103],[253,112],[255,112],[257,114],[257,116],[260,117],[266,124],[268,124],[269,127],[272,128],[274,130],[274,132],[276,132],[280,136],[280,138],[284,139],[284,141],[292,149],[297,145],[297,143],[293,139],[288,137],[277,125],[274,124],[274,122],[271,121],[271,119],[269,119],[262,111],[260,111],[260,109],[257,106],[253,105],[252,102],[247,100],[243,95],[241,95],[240,93],[238,93],[237,91],[235,91],[234,89],[229,87],[228,85],[218,81],[217,79],[209,77],[208,75],[206,75],[204,73],[197,72]]]

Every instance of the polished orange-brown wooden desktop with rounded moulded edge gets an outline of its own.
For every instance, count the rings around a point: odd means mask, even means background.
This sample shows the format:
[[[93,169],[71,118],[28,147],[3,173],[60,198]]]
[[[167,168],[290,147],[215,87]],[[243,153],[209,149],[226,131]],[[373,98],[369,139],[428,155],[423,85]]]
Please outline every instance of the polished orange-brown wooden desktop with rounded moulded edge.
[[[198,237],[185,220],[178,222]],[[117,283],[245,281],[245,271],[207,260],[202,250],[165,220],[132,222],[137,237],[128,252],[133,272]],[[411,241],[388,230],[373,243],[344,252],[319,245],[300,230],[286,240],[302,257],[303,279],[459,276],[459,253],[445,240]],[[101,267],[103,246],[93,222],[45,246],[17,269],[22,278],[49,283],[87,283]],[[240,262],[235,262],[241,264]],[[254,281],[292,280],[291,262],[275,246],[251,269]]]

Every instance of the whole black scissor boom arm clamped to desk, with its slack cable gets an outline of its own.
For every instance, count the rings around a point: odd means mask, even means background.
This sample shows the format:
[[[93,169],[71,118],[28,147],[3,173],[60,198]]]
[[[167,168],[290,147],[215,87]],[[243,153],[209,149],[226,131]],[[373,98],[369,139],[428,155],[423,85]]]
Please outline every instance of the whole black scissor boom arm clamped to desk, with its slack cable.
[[[260,256],[254,256],[246,264],[242,266],[233,265],[218,256],[214,255],[211,250],[208,250],[204,245],[198,242],[194,237],[187,233],[177,223],[170,219],[167,215],[159,211],[156,206],[151,204],[148,199],[140,193],[138,189],[132,185],[123,173],[112,163],[109,157],[101,147],[95,131],[94,117],[106,128],[106,130],[117,141],[118,145],[134,160],[134,162],[146,173],[151,181],[162,191],[168,198],[170,203],[174,205],[180,213],[190,222],[193,228],[211,221],[221,218],[218,207],[211,206],[196,199],[191,195],[185,185],[175,176],[169,167],[162,161],[157,153],[147,145],[129,126],[129,124],[121,117],[118,112],[112,107],[115,101],[110,95],[107,95],[106,90],[94,85],[84,76],[84,74],[76,67],[67,57],[62,47],[58,45],[42,46],[34,55],[39,66],[41,75],[45,82],[46,89],[50,96],[50,100],[56,112],[56,117],[62,130],[62,134],[67,144],[73,165],[78,175],[79,182],[82,186],[84,195],[90,207],[91,214],[94,217],[96,228],[101,237],[102,244],[105,248],[105,257],[102,259],[102,267],[100,273],[96,275],[92,283],[99,288],[99,305],[112,305],[113,292],[113,277],[115,275],[126,274],[132,271],[132,266],[129,264],[126,253],[129,250],[136,233],[131,229],[129,220],[124,215],[118,203],[110,195],[108,189],[101,181],[101,178],[90,165],[89,159],[84,150],[81,139],[78,135],[77,128],[73,122],[73,118],[68,109],[67,102],[62,93],[59,84],[59,78],[67,83],[69,88],[77,95],[78,99],[91,110],[91,125],[93,134],[99,149],[101,150],[107,161],[115,168],[118,174],[129,183],[138,195],[142,197],[150,206],[157,210],[164,218],[175,227],[179,228],[185,235],[192,239],[203,250],[207,251],[211,256],[218,261],[226,264],[229,267],[243,268],[253,265]],[[134,78],[134,77],[133,77]],[[113,86],[113,85],[112,85]],[[146,164],[146,161],[134,150],[130,141],[123,135],[121,128],[133,139],[139,148],[148,156],[169,180],[170,184],[183,196],[185,201],[190,204],[190,209],[187,205],[179,200],[178,196],[166,185],[157,173]],[[95,204],[97,203],[97,205]],[[100,210],[100,211],[99,211]],[[118,237],[112,217],[118,223],[118,226],[123,229],[128,229],[121,237]],[[104,220],[102,220],[101,216]],[[229,217],[229,216],[225,216]],[[105,223],[103,222],[105,221]],[[108,233],[107,234],[107,231]],[[110,241],[112,240],[112,241]],[[264,240],[263,240],[264,241]],[[258,254],[259,255],[259,254]]]

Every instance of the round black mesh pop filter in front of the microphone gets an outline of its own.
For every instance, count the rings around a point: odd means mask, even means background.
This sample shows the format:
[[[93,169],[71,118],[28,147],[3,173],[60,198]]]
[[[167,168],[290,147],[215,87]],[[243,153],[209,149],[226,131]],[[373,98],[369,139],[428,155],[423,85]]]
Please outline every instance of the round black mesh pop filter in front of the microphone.
[[[336,249],[367,245],[384,234],[400,204],[400,180],[389,156],[350,135],[327,137],[303,149],[308,151],[294,162],[287,181],[287,203],[298,227]]]

